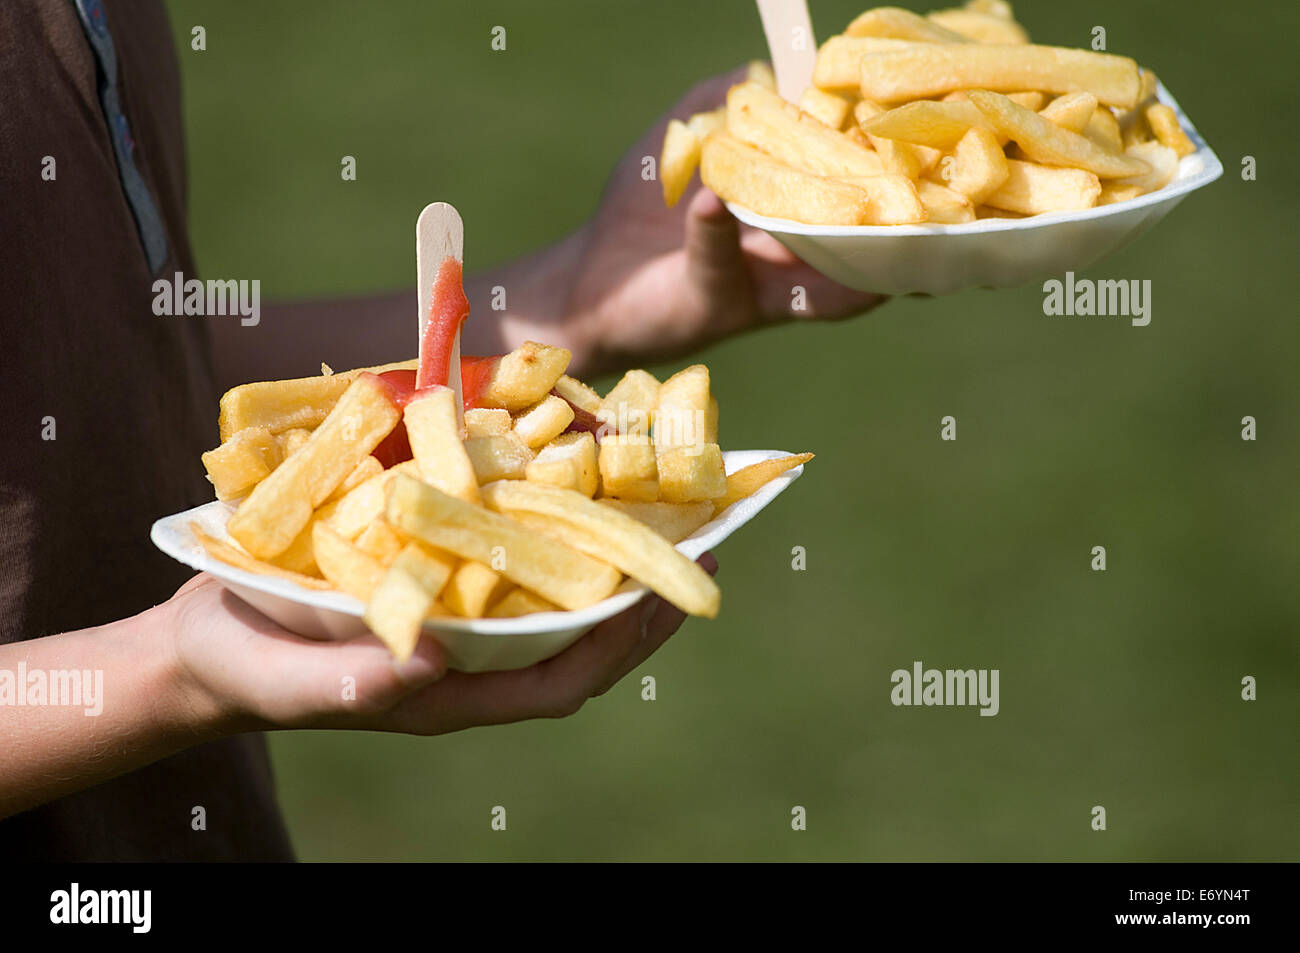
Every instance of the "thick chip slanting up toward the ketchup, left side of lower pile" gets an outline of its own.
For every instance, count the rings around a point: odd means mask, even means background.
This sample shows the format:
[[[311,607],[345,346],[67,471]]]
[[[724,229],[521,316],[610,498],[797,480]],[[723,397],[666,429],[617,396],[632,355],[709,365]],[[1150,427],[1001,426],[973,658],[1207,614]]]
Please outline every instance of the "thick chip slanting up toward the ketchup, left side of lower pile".
[[[259,559],[280,555],[400,419],[382,381],[358,377],[307,445],[254,488],[226,532]]]

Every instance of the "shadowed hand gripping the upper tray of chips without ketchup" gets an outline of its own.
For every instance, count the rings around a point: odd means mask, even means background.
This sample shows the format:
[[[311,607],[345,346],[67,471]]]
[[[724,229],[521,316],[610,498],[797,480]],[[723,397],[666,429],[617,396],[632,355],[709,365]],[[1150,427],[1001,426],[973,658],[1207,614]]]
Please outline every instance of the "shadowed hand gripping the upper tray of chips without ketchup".
[[[575,360],[607,369],[667,358],[718,338],[786,320],[842,319],[883,300],[838,285],[780,242],[742,226],[710,190],[693,183],[673,208],[659,182],[641,178],[658,156],[668,118],[720,105],[744,70],[696,86],[623,156],[588,226],[569,320]],[[803,309],[794,309],[802,287]]]

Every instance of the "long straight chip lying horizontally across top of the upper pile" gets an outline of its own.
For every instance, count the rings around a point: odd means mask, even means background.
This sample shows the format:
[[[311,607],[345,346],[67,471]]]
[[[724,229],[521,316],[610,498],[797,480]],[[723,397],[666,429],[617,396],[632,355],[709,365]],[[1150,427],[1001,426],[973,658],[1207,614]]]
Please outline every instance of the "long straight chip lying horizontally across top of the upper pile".
[[[1034,44],[916,43],[862,57],[862,95],[878,103],[941,96],[954,90],[1092,92],[1106,105],[1138,101],[1138,64],[1124,56]]]

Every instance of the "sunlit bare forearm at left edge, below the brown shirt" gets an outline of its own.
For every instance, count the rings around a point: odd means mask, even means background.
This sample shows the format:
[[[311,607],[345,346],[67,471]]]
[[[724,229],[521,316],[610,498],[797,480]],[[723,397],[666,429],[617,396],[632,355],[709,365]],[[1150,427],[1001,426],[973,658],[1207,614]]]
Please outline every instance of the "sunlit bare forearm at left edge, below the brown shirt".
[[[0,818],[221,733],[218,714],[186,688],[172,618],[164,603],[0,646]]]

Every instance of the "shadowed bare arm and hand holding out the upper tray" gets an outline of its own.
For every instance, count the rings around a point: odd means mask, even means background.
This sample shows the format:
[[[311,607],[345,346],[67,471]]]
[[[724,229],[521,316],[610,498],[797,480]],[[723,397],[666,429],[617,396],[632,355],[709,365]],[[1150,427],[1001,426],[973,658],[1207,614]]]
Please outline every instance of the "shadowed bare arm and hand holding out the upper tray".
[[[502,354],[532,338],[573,352],[588,376],[686,354],[718,338],[788,320],[841,319],[879,304],[835,285],[770,235],[742,228],[712,192],[696,186],[666,208],[641,177],[670,117],[720,104],[740,75],[686,94],[615,166],[595,216],[559,243],[467,281],[464,354]],[[473,263],[469,263],[473,268]],[[507,309],[493,311],[491,290]],[[806,308],[792,312],[793,289]],[[213,322],[222,389],[252,380],[320,373],[413,358],[415,289],[334,302],[268,304],[261,324]]]

